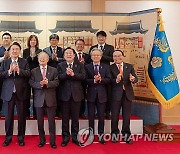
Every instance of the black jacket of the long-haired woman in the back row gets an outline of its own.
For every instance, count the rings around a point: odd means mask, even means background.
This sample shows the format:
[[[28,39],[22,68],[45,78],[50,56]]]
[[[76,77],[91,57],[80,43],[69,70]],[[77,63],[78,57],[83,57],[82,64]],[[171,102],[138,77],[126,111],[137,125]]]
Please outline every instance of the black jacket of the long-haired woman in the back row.
[[[41,49],[36,49],[36,56],[32,59],[32,57],[30,56],[30,49],[24,49],[23,50],[23,58],[25,58],[29,64],[29,68],[30,70],[32,70],[33,68],[36,68],[39,66],[39,62],[38,62],[38,57],[37,55],[41,52]]]

